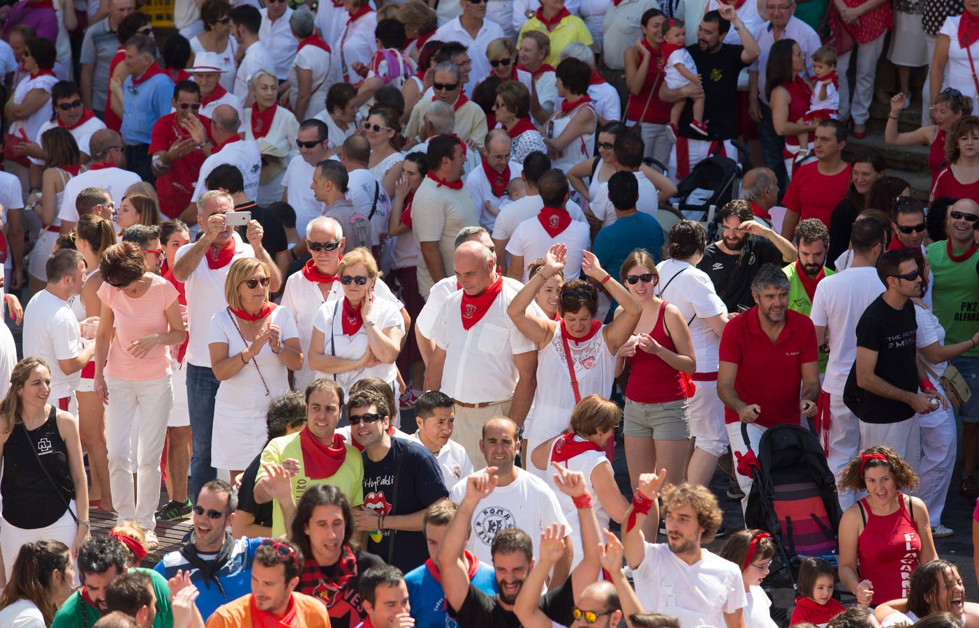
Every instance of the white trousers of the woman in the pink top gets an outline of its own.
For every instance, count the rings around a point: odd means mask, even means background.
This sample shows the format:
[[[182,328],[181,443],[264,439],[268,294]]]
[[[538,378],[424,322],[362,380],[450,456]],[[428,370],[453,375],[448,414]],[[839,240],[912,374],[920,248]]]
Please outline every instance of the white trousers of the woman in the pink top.
[[[160,456],[166,423],[173,406],[169,376],[150,381],[106,378],[109,406],[106,409],[106,443],[109,448],[109,484],[118,520],[133,521],[152,530],[160,502]],[[132,448],[129,438],[133,415],[139,410],[136,454],[138,483],[133,496]]]

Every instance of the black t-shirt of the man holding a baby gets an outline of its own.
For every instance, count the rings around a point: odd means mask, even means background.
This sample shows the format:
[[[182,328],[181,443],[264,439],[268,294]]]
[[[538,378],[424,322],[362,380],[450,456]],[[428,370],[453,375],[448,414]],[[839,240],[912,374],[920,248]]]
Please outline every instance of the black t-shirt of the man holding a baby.
[[[704,119],[707,121],[708,138],[731,140],[737,137],[737,76],[747,65],[741,61],[744,46],[722,44],[716,53],[701,50],[693,44],[686,47],[697,64],[701,84],[704,86]],[[693,119],[693,101],[687,99],[679,118],[681,137],[703,140],[703,135],[690,128]]]

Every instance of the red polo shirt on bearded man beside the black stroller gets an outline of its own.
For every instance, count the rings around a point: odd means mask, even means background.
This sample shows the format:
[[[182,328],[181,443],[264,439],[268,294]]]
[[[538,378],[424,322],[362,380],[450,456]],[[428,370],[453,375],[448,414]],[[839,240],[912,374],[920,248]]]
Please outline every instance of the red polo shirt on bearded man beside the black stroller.
[[[737,365],[734,390],[741,400],[762,407],[756,424],[799,425],[802,365],[818,359],[816,328],[808,316],[786,310],[785,327],[772,342],[758,322],[756,305],[724,326],[718,357]],[[724,423],[737,422],[734,411],[724,408]]]

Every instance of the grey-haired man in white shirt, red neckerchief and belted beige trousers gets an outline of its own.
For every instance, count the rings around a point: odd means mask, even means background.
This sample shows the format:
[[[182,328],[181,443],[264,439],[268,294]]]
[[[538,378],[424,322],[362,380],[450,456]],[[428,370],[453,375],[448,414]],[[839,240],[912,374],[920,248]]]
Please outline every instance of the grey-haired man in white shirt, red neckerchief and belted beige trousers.
[[[464,243],[455,250],[453,266],[461,290],[449,294],[436,318],[425,389],[452,398],[456,440],[471,460],[482,461],[481,429],[490,418],[510,417],[517,425],[527,418],[537,352],[506,314],[516,292],[496,272],[489,248]]]

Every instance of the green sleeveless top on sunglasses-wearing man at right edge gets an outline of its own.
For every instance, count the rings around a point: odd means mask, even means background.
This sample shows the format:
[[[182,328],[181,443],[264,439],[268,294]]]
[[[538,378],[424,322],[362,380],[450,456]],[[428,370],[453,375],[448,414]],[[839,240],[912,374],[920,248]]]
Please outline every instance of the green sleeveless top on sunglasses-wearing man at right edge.
[[[979,329],[979,253],[956,262],[949,257],[945,243],[928,245],[925,256],[935,278],[931,291],[935,316],[945,328],[945,343],[953,344],[968,340]],[[953,248],[952,252],[960,255],[965,251]],[[963,355],[979,357],[979,347]]]

